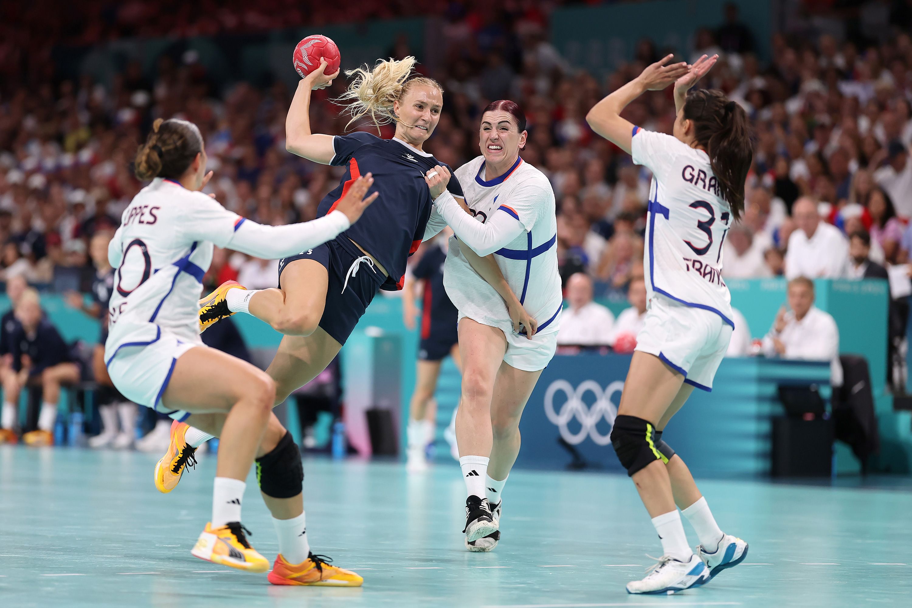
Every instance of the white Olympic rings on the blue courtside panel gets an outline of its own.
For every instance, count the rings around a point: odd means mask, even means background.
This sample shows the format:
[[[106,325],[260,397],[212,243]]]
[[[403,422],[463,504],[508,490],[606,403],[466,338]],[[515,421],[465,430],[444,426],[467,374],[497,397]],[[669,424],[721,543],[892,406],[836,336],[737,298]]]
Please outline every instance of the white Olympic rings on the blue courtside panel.
[[[611,427],[614,426],[617,416],[617,406],[611,399],[617,393],[619,403],[619,395],[623,390],[624,382],[622,380],[612,382],[606,386],[605,390],[602,390],[602,386],[595,380],[586,380],[575,389],[566,380],[554,380],[544,392],[544,414],[560,429],[561,437],[567,443],[577,445],[588,436],[596,442],[596,445],[606,446],[611,443]],[[567,398],[564,405],[560,407],[560,411],[554,411],[554,395],[559,392],[563,392]],[[586,393],[592,393],[596,397],[592,407],[586,406],[583,401]],[[580,429],[575,433],[567,427],[567,424],[574,418],[580,424]],[[602,435],[596,428],[603,418],[609,427],[605,435]]]

